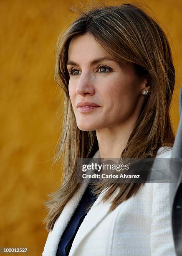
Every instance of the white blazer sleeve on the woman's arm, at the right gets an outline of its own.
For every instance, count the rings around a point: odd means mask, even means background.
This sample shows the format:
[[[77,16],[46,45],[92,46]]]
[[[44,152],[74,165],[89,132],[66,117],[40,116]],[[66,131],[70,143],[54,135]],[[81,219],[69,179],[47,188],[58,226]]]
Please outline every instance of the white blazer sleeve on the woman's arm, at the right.
[[[151,256],[176,256],[170,222],[169,185],[153,184]]]

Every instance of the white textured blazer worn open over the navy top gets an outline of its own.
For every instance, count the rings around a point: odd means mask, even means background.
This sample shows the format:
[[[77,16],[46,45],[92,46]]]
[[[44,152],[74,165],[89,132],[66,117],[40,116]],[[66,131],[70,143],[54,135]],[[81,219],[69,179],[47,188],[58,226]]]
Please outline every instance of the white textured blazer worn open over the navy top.
[[[170,158],[159,148],[156,158]],[[100,156],[99,151],[94,157]],[[66,228],[88,184],[83,183],[67,202],[49,232],[43,256],[55,256]],[[117,190],[112,196],[119,192]],[[169,183],[145,183],[136,195],[108,212],[103,193],[88,211],[74,238],[69,256],[175,256],[169,209]]]

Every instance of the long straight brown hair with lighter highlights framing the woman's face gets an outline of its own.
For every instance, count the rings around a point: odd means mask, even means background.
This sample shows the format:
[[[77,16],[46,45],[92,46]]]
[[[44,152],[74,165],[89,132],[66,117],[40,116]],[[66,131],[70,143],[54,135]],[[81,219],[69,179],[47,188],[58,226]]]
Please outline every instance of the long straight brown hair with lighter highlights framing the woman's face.
[[[161,146],[172,146],[174,133],[169,118],[169,105],[175,82],[172,54],[167,37],[153,18],[132,4],[102,6],[81,13],[56,44],[54,77],[65,96],[63,132],[55,162],[63,160],[63,184],[49,195],[49,210],[44,220],[46,229],[53,225],[64,206],[77,191],[77,159],[91,158],[99,149],[96,131],[81,131],[68,93],[68,47],[74,36],[90,33],[117,61],[134,65],[139,77],[147,77],[151,93],[146,97],[142,111],[129,137],[122,158],[154,158]],[[117,187],[119,194],[112,201],[114,210],[124,200],[136,194],[142,184],[97,183],[94,193],[109,187],[103,200],[110,198]]]

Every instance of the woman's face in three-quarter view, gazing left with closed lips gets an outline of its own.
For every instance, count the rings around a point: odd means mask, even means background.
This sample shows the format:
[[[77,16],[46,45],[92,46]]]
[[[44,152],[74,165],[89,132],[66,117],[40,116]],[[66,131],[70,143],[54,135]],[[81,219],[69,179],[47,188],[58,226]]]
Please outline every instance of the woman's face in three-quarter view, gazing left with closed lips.
[[[93,36],[84,34],[71,40],[67,68],[69,95],[80,130],[100,130],[137,119],[146,81],[139,81],[131,64],[114,61]]]

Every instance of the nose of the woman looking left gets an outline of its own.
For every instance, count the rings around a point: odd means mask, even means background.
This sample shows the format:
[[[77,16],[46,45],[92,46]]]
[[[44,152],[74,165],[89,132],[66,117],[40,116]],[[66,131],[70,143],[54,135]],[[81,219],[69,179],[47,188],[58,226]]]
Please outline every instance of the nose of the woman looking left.
[[[76,92],[81,96],[88,94],[94,95],[95,89],[93,79],[91,79],[90,75],[81,73],[81,76],[78,78]]]

